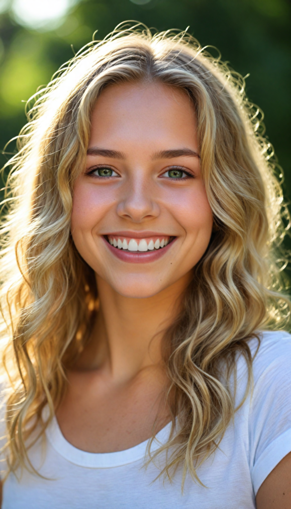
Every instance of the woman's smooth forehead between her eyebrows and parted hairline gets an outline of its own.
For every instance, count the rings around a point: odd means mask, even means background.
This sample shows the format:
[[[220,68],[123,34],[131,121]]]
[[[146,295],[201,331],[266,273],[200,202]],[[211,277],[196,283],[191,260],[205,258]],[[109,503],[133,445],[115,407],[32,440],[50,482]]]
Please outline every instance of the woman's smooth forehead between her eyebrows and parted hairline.
[[[165,145],[197,145],[195,109],[188,95],[162,83],[109,86],[97,99],[91,140],[104,147],[110,140]]]

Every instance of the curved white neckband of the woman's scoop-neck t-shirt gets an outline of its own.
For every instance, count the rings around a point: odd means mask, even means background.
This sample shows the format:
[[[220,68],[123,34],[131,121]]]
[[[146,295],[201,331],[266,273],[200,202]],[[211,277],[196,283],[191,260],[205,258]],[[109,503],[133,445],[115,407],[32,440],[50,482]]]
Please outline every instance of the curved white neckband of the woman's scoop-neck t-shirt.
[[[171,424],[172,423],[169,422],[155,435],[150,447],[151,453],[168,441],[171,432]],[[115,453],[88,453],[85,450],[74,447],[65,439],[55,416],[46,428],[46,436],[52,447],[54,447],[57,453],[63,458],[75,465],[87,468],[112,468],[138,461],[146,457],[147,445],[149,442],[148,439],[134,447]]]

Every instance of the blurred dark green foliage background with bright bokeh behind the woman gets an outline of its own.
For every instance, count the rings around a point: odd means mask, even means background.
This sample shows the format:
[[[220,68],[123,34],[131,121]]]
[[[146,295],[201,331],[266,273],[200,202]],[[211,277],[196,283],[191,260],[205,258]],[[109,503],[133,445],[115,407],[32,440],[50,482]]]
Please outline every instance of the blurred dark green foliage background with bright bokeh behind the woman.
[[[25,123],[25,101],[97,32],[124,20],[158,31],[186,29],[247,78],[249,98],[265,114],[267,136],[291,199],[289,0],[0,0],[0,163]],[[13,150],[13,144],[10,151]]]

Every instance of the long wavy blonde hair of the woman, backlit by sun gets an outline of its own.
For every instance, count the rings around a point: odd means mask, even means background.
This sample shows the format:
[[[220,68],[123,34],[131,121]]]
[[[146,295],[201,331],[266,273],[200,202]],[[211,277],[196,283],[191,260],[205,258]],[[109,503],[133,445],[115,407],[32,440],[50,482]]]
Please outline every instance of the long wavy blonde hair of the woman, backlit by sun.
[[[158,451],[168,453],[166,476],[182,464],[183,476],[190,471],[199,481],[197,467],[216,449],[235,411],[228,382],[237,354],[246,358],[250,389],[248,340],[288,320],[278,251],[289,222],[281,170],[244,78],[186,32],[152,35],[142,24],[119,25],[85,46],[33,96],[17,153],[5,166],[1,330],[9,379],[7,457],[15,474],[19,467],[33,469],[29,447],[44,436],[62,399],[66,370],[84,348],[97,312],[93,270],[70,233],[91,112],[104,87],[137,80],[166,83],[193,101],[215,222],[183,310],[165,332],[174,394],[169,406],[173,423],[179,422]]]

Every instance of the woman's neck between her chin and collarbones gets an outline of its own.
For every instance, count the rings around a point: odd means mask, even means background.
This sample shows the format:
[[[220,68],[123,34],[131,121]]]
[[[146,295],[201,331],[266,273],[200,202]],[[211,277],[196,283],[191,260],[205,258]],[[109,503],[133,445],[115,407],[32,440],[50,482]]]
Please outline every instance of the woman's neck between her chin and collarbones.
[[[148,367],[161,367],[163,333],[179,313],[190,274],[142,299],[118,294],[98,275],[96,280],[100,307],[80,367],[106,370],[124,381]]]

